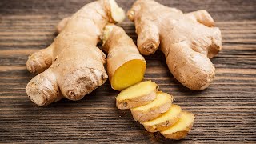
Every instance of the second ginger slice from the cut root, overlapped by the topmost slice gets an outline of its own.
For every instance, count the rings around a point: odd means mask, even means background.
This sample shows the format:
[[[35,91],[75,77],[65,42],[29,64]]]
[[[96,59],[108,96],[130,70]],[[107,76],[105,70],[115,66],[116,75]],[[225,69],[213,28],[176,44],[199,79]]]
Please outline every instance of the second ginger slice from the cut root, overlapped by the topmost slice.
[[[166,113],[170,109],[173,102],[173,96],[158,91],[154,101],[144,105],[130,109],[134,119],[139,122],[150,121],[158,116]]]

